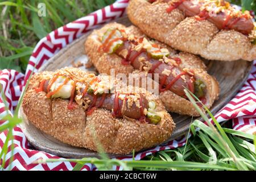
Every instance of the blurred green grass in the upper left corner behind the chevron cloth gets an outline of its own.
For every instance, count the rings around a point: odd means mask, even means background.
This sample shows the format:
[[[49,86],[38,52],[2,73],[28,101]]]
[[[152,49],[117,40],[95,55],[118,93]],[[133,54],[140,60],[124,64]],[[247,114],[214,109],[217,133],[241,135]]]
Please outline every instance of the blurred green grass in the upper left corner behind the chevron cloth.
[[[28,59],[40,39],[114,1],[0,1],[0,69],[26,71]],[[46,3],[46,17],[38,16],[38,3]]]

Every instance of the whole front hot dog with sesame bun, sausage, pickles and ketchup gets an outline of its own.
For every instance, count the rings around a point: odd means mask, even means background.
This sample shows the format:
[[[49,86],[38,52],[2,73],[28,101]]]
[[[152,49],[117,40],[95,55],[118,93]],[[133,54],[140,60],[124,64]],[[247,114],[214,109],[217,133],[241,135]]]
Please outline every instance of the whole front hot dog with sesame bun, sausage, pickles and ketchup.
[[[94,151],[100,143],[105,152],[129,154],[170,137],[175,123],[157,97],[133,86],[129,94],[125,88],[105,93],[109,79],[76,68],[36,73],[24,91],[23,113],[44,133]]]

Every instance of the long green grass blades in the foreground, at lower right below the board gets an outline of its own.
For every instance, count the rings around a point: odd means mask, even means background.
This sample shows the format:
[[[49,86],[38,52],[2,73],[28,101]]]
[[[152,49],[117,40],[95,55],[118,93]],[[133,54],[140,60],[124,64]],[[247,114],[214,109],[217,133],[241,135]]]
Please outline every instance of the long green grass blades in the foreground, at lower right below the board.
[[[185,92],[200,111],[194,100],[195,96],[187,90]],[[77,165],[74,170],[80,170],[85,163],[93,163],[99,170],[112,169],[113,165],[122,166],[125,170],[255,170],[256,136],[222,127],[210,111],[206,107],[205,109],[213,119],[214,125],[209,122],[207,115],[200,112],[208,126],[201,121],[193,121],[191,129],[195,131],[194,128],[198,127],[200,130],[195,137],[187,140],[184,147],[160,151],[138,161],[109,159],[101,152],[101,159],[43,159],[36,163],[75,162]]]

